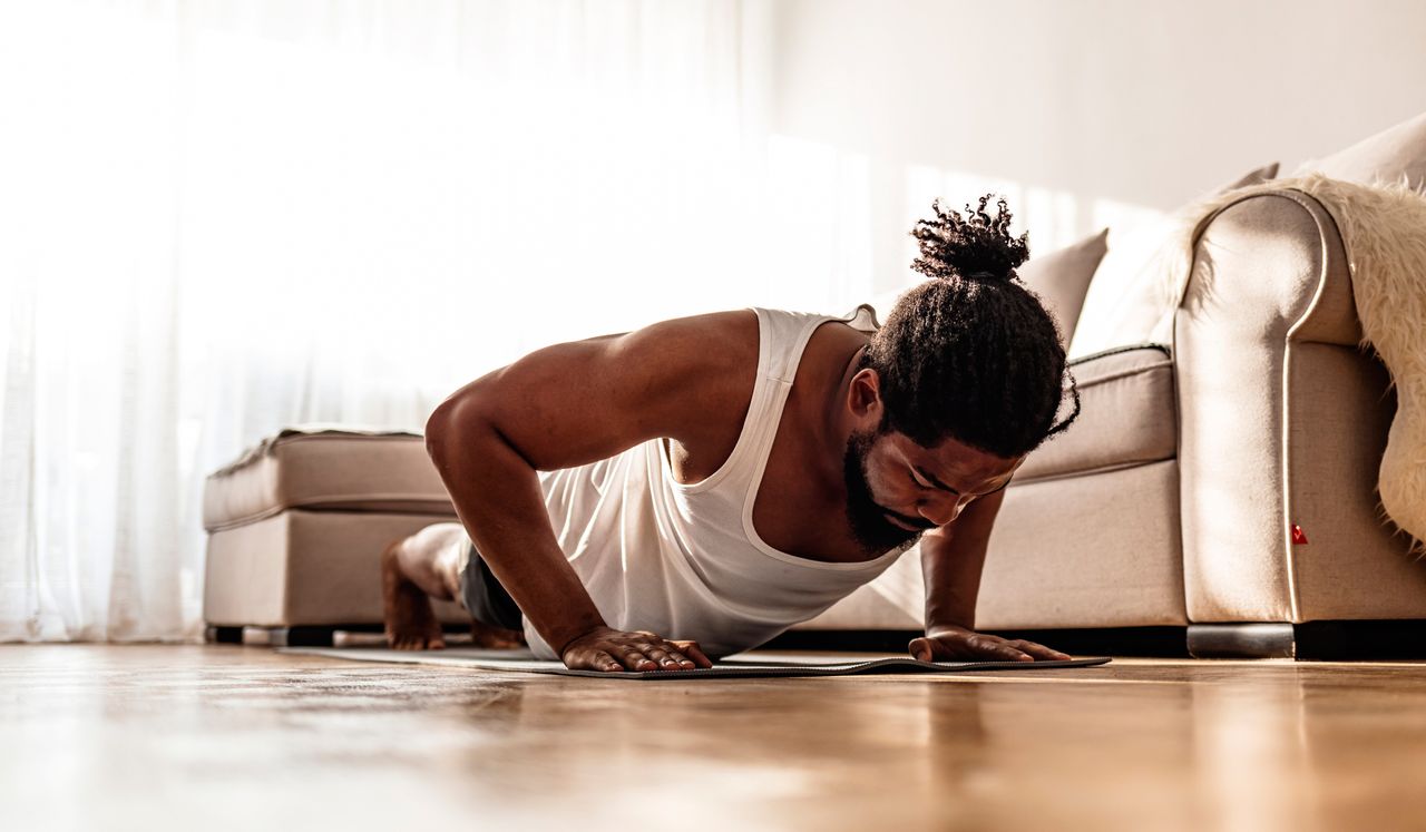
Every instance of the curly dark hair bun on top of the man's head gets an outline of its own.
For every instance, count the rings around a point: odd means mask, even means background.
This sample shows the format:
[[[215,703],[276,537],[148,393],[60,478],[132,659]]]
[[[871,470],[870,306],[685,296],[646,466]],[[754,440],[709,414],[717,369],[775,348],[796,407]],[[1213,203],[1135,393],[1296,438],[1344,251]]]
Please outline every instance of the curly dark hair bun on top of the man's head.
[[[911,229],[921,244],[921,256],[911,268],[928,278],[961,278],[980,282],[1010,282],[1015,269],[1030,256],[1030,235],[1010,235],[1010,209],[1005,199],[995,202],[991,217],[985,212],[992,194],[980,198],[974,211],[967,204],[960,211],[941,211],[941,201],[931,204],[935,219],[920,219]]]

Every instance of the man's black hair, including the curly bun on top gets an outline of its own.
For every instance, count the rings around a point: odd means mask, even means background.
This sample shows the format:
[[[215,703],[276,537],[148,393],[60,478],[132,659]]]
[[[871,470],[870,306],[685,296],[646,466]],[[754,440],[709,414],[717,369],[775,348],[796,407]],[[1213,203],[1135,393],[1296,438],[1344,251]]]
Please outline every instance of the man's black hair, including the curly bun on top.
[[[967,205],[967,217],[937,201],[935,217],[915,224],[913,268],[933,279],[897,299],[860,368],[880,376],[883,432],[924,447],[954,437],[1012,459],[1068,427],[1079,393],[1054,319],[1015,272],[1028,234],[1011,236],[1005,201],[992,217],[990,199]],[[1055,422],[1067,393],[1071,413]]]

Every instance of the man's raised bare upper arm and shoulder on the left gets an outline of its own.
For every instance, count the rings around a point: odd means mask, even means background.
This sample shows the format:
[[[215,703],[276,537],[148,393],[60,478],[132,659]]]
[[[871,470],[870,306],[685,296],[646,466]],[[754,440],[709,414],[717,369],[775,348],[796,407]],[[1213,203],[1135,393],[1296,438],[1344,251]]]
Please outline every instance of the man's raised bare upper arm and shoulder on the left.
[[[453,393],[432,415],[428,443],[459,442],[479,425],[535,469],[585,464],[653,437],[683,439],[730,403],[746,409],[756,366],[750,311],[558,343]],[[744,399],[730,402],[743,385]]]

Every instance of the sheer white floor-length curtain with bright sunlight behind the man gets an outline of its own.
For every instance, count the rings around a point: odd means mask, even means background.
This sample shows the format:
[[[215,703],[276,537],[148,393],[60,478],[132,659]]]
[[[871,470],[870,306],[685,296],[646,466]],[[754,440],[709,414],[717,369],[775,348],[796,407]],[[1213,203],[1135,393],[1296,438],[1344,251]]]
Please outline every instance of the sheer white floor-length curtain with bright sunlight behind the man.
[[[769,135],[767,27],[0,0],[0,641],[197,640],[202,477],[284,425],[419,430],[545,343],[866,299],[864,165]]]

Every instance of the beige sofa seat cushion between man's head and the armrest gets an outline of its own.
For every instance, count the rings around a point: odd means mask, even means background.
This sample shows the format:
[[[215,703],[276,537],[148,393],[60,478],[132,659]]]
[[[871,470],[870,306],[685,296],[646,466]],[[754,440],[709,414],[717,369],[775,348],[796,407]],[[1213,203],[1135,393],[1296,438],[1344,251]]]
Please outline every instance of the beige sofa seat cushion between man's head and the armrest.
[[[1178,416],[1168,348],[1141,345],[1070,362],[1079,417],[1037,450],[1015,484],[1174,459]]]

